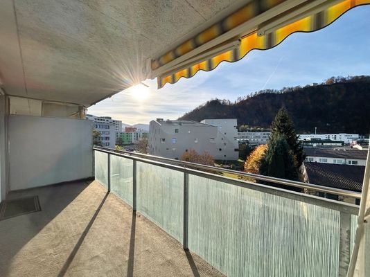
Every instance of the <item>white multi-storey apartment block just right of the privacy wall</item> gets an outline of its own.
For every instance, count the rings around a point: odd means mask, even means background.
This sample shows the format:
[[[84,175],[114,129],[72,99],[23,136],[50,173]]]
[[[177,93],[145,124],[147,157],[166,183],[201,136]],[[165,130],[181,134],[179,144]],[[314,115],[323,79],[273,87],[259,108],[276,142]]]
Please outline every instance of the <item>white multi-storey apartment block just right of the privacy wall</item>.
[[[92,116],[87,114],[88,120],[94,121],[94,129],[101,134],[102,145],[108,148],[114,148],[116,145],[116,133],[122,129],[122,121],[114,120],[109,116]]]

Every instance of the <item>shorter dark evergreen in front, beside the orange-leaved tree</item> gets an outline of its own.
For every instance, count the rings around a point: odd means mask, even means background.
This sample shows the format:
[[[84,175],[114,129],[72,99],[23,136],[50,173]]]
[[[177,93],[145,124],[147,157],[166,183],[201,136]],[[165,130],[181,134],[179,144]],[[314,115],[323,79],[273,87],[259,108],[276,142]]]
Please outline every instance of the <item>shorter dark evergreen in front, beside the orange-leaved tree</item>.
[[[298,181],[298,172],[294,166],[294,157],[284,134],[275,134],[270,139],[270,143],[261,162],[260,172],[262,175]],[[300,188],[283,186],[268,183],[270,186],[285,188],[294,191],[301,191]]]

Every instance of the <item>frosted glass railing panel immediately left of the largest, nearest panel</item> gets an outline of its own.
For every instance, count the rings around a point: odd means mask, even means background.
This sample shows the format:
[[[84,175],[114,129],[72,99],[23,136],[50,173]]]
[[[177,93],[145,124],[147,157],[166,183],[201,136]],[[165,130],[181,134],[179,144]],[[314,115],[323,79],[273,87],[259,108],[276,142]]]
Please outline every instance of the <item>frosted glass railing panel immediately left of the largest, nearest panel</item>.
[[[137,162],[137,211],[182,242],[184,173]]]

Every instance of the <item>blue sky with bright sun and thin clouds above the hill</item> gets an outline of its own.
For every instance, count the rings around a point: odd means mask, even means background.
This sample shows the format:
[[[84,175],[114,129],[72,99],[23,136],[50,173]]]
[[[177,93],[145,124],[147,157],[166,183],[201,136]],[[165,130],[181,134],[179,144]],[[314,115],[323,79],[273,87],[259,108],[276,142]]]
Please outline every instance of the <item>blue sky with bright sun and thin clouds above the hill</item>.
[[[88,113],[123,123],[177,119],[214,98],[236,100],[261,89],[305,86],[331,76],[370,75],[370,6],[353,8],[330,26],[294,33],[278,46],[254,50],[234,63],[157,89],[157,80],[121,91],[89,107]]]

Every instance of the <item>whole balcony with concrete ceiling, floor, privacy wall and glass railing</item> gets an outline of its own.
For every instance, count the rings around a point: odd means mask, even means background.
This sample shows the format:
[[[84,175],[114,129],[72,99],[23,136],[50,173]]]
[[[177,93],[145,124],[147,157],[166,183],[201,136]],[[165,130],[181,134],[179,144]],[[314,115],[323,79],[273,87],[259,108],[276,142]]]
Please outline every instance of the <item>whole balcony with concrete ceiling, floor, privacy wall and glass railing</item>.
[[[202,69],[190,64],[212,70],[224,51],[238,60],[243,39],[307,12],[370,1],[149,2],[1,1],[0,276],[366,276],[366,192],[94,147],[86,109]],[[222,21],[245,9],[253,20]]]

